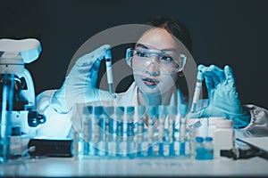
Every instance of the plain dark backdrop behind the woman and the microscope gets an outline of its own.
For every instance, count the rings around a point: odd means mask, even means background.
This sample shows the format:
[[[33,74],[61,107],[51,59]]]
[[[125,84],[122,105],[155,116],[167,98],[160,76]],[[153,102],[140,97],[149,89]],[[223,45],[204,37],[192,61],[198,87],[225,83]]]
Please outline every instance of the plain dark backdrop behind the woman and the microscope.
[[[41,42],[38,61],[26,65],[38,94],[63,84],[72,56],[96,33],[172,16],[189,28],[198,64],[229,64],[241,101],[268,108],[267,6],[266,0],[0,0],[0,38]]]

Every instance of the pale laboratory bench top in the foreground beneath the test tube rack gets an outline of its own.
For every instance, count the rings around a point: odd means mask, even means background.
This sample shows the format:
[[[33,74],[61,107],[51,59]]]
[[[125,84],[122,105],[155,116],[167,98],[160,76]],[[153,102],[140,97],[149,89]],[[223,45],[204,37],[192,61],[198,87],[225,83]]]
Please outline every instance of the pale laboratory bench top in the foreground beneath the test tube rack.
[[[0,165],[0,176],[267,177],[264,158],[22,158]]]

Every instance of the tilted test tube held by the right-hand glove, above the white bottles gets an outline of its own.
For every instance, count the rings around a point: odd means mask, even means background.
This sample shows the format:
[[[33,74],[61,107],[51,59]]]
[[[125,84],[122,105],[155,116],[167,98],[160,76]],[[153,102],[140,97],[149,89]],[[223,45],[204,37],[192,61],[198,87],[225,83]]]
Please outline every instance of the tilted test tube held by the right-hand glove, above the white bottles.
[[[202,82],[204,80],[204,76],[201,70],[198,69],[197,73],[197,85],[193,97],[193,102],[192,102],[192,107],[191,107],[191,112],[196,112],[197,111],[197,103],[199,100],[199,96],[202,90]]]

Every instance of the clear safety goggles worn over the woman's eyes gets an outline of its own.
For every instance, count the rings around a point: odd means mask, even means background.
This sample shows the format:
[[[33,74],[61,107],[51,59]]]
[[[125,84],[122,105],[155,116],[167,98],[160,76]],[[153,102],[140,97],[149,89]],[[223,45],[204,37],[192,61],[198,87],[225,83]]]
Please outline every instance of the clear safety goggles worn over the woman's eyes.
[[[128,48],[126,61],[130,68],[136,70],[142,70],[154,62],[161,71],[172,74],[180,72],[184,68],[187,56],[173,51],[163,52],[145,48]],[[148,62],[150,63],[148,64]]]

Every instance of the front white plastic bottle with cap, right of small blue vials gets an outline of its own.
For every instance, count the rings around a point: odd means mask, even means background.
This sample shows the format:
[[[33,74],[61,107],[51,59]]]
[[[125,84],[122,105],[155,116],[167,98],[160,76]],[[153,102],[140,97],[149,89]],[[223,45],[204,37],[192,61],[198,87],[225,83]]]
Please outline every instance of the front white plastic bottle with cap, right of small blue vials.
[[[214,131],[214,158],[221,157],[221,150],[231,150],[233,148],[233,121],[229,119],[218,120]]]

